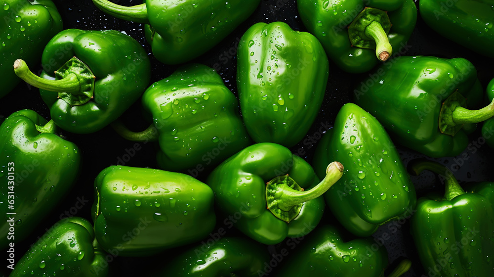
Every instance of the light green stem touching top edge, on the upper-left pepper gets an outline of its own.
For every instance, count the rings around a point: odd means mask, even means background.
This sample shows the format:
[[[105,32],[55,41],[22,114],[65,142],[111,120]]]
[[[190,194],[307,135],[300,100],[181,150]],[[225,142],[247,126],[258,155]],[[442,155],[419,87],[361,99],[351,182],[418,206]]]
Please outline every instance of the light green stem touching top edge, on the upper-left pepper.
[[[117,5],[108,0],[93,0],[93,3],[105,13],[120,19],[149,24],[146,3],[131,7]]]

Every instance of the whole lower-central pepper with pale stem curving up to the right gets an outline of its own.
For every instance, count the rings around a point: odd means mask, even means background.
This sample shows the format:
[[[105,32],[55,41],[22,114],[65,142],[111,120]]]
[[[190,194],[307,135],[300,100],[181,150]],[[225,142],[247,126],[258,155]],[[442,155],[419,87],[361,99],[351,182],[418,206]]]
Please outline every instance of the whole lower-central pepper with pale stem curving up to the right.
[[[326,177],[319,183],[302,158],[282,145],[264,142],[224,161],[206,183],[214,191],[219,210],[240,231],[261,243],[276,244],[315,228],[324,211],[324,199],[319,196],[342,171],[338,162],[327,165]]]

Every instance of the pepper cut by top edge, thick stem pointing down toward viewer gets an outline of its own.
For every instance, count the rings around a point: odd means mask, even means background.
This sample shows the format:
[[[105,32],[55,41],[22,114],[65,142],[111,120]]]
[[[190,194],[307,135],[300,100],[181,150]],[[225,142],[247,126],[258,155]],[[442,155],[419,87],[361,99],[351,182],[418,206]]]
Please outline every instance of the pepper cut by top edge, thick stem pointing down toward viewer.
[[[329,59],[349,73],[367,72],[398,52],[417,21],[413,0],[297,0],[297,5],[302,22]],[[359,19],[363,11],[369,14]],[[362,41],[351,41],[350,34]]]

